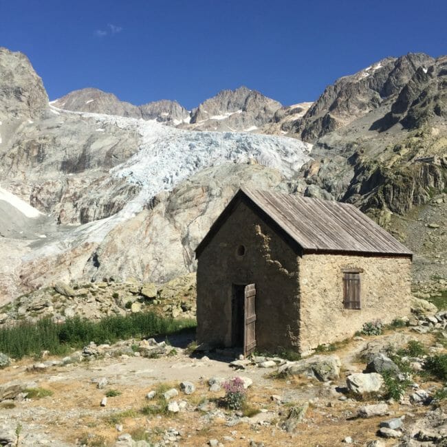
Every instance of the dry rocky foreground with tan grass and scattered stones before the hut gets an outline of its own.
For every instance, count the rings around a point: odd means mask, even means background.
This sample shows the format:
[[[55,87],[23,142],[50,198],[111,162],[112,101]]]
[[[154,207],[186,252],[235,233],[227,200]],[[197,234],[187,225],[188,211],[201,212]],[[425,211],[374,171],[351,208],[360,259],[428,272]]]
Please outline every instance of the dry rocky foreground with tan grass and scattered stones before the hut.
[[[2,355],[0,444],[442,446],[446,390],[424,369],[445,358],[447,312],[419,305],[426,314],[402,327],[303,360],[197,352],[193,333],[91,343],[65,358]],[[222,404],[235,377],[241,410]]]

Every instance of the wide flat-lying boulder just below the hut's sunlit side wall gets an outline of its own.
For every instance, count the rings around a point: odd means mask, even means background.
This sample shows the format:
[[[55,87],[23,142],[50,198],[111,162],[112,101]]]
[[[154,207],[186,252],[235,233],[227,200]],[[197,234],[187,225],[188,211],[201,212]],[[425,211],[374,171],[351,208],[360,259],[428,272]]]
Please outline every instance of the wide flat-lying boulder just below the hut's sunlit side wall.
[[[322,382],[334,380],[340,375],[338,356],[312,356],[298,362],[287,362],[278,369],[279,375],[306,375]]]

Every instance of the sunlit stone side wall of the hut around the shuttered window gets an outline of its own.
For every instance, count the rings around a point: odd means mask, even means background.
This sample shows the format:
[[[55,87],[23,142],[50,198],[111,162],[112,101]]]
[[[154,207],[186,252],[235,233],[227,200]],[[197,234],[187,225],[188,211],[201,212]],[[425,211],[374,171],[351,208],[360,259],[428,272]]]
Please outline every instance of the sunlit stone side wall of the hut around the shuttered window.
[[[307,254],[298,259],[301,286],[301,352],[331,343],[362,329],[363,323],[410,313],[411,260]],[[343,305],[344,268],[360,268],[361,309]]]

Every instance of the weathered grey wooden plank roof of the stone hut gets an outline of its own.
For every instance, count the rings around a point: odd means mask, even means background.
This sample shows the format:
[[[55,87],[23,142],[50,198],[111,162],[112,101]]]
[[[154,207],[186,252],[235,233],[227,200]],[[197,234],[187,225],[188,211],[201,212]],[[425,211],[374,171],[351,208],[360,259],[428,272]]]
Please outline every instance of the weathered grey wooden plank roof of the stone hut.
[[[248,188],[241,188],[223,210],[197,247],[197,256],[241,199],[265,213],[304,253],[412,257],[408,248],[351,204]]]

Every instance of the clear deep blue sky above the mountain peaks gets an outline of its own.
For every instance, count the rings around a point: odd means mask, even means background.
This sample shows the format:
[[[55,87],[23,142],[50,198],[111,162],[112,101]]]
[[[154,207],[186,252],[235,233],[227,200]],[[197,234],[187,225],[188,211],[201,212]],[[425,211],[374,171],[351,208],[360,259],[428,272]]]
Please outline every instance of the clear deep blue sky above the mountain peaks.
[[[98,87],[190,108],[246,85],[287,105],[385,56],[447,54],[446,0],[0,0],[0,17],[50,99]]]

